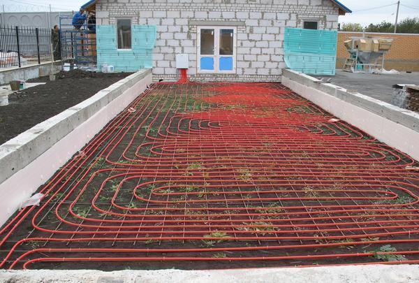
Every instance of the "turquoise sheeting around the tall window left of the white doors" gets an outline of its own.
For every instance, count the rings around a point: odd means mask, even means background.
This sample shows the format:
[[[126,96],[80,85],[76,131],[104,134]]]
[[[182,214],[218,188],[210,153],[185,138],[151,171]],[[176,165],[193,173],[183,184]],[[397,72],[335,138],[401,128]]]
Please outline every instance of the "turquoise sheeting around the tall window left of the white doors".
[[[96,45],[98,68],[112,65],[115,71],[138,71],[153,67],[153,49],[156,42],[156,26],[135,25],[131,27],[132,49],[117,49],[117,26],[98,25]]]

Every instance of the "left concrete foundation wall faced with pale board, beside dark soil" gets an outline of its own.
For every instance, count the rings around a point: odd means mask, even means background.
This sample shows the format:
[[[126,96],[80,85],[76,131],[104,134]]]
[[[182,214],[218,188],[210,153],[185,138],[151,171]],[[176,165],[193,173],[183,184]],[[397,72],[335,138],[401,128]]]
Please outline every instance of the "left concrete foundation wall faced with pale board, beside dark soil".
[[[1,145],[0,226],[151,83],[139,71]]]

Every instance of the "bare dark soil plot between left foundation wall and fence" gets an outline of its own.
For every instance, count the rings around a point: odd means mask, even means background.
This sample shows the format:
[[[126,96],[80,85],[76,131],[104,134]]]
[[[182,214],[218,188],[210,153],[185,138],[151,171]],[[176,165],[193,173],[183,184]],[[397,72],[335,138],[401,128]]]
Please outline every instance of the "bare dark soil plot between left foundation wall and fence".
[[[131,73],[91,73],[80,70],[60,72],[57,80],[49,77],[28,80],[47,82],[9,96],[9,105],[0,107],[0,144],[31,129],[62,111],[88,99],[101,89]]]

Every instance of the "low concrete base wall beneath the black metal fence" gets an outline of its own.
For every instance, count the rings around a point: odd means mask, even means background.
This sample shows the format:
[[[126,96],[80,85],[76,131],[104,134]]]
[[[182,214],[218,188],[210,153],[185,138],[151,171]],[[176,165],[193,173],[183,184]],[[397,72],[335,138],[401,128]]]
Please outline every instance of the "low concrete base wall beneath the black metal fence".
[[[61,61],[43,63],[40,65],[23,66],[22,68],[8,68],[0,70],[0,85],[5,85],[12,80],[30,80],[33,78],[51,75],[61,71]]]

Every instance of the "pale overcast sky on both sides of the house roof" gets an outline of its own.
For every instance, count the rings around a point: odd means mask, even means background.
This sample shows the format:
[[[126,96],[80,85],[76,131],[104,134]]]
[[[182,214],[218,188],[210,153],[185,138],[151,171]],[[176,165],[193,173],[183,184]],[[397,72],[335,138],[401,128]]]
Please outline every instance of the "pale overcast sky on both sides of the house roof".
[[[49,5],[52,6],[52,10],[77,10],[87,1],[88,0],[0,0],[0,11],[3,11],[3,5],[6,12],[40,11],[46,10]],[[397,0],[341,0],[341,2],[348,6],[348,8],[351,8],[353,13],[351,15],[339,17],[339,22],[359,22],[362,25],[367,25],[371,22],[378,23],[383,20],[389,22],[395,21],[397,8],[395,3]],[[419,0],[401,0],[401,3],[402,6],[400,6],[399,14],[400,20],[403,20],[406,17],[417,17],[419,15]]]

